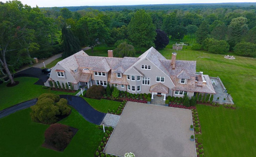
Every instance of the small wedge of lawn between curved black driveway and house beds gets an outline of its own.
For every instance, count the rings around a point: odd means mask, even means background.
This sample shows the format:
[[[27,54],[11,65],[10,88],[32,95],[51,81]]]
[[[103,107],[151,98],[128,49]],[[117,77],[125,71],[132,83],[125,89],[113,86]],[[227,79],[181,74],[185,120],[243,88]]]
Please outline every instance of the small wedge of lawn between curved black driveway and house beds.
[[[121,102],[118,101],[111,101],[106,99],[91,99],[91,98],[85,98],[85,99],[95,110],[98,110],[100,112],[107,113],[108,110],[117,110],[120,106]]]

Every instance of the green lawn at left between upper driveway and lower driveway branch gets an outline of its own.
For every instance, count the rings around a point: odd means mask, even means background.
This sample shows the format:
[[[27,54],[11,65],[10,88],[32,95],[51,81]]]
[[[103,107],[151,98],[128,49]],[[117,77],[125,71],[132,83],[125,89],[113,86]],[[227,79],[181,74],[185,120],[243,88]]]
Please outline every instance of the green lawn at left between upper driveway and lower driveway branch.
[[[19,84],[14,87],[7,87],[7,83],[0,84],[0,110],[8,108],[17,103],[28,101],[33,98],[37,98],[43,93],[53,93],[57,95],[74,95],[74,93],[67,93],[62,91],[53,91],[43,89],[41,85],[34,84],[38,81],[38,78],[20,77],[15,78],[15,81],[19,81]]]

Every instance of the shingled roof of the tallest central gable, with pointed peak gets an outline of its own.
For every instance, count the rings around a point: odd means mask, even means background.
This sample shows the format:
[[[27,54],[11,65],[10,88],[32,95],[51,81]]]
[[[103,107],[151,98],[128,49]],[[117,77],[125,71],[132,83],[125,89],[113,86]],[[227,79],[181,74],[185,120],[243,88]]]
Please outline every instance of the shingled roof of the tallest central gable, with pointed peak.
[[[166,70],[166,68],[163,66],[160,60],[166,60],[166,58],[160,54],[154,47],[150,47],[146,52],[144,52],[142,55],[140,55],[139,60],[135,62],[133,65],[131,65],[130,68],[128,68],[126,71],[129,71],[133,66],[138,64],[140,61],[147,58],[149,61],[151,61],[153,64],[157,66],[161,71],[163,71],[167,76],[170,76],[170,73]],[[125,71],[125,73],[126,73]]]

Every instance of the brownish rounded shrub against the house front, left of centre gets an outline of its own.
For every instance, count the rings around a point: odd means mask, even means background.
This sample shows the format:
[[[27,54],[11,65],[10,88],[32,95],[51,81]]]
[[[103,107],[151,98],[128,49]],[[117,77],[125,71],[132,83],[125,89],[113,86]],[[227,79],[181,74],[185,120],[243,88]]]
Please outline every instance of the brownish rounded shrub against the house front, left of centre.
[[[86,92],[88,98],[99,99],[106,94],[105,88],[100,85],[92,85]]]

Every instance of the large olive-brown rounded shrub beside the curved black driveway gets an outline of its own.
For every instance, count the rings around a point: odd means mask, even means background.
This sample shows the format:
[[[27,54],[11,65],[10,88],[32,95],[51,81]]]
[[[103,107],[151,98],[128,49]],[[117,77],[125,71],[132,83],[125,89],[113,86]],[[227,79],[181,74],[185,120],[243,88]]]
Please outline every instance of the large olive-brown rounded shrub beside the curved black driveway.
[[[47,98],[49,96],[49,98]],[[59,101],[59,102],[57,102]],[[57,102],[57,103],[56,103]],[[66,99],[59,99],[59,96],[43,94],[38,97],[36,105],[30,107],[31,119],[34,122],[45,124],[56,123],[60,115],[69,115],[71,109],[67,106]]]

